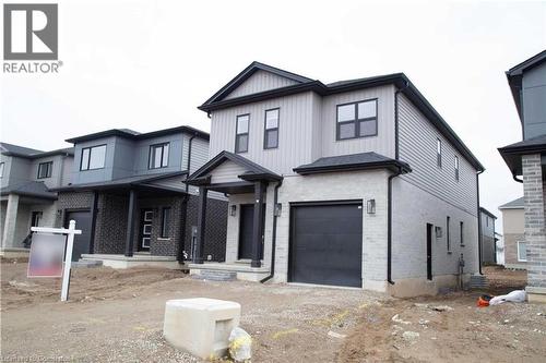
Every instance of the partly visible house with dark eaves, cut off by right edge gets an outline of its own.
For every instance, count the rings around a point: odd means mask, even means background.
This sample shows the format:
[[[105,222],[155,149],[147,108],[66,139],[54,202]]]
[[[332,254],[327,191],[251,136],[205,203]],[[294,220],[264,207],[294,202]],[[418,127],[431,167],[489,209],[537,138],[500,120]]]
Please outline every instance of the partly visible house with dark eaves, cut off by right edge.
[[[546,50],[507,72],[523,141],[499,148],[512,178],[523,183],[529,301],[546,302]]]

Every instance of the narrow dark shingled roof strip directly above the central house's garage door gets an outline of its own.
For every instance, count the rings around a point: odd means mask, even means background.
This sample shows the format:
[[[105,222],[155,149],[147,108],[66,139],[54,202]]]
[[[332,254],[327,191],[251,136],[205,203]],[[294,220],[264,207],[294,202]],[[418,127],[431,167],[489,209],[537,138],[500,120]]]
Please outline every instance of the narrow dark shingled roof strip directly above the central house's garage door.
[[[317,159],[311,164],[306,164],[294,168],[294,171],[306,176],[312,173],[333,172],[333,171],[354,171],[369,169],[390,169],[411,172],[412,168],[404,161],[388,158],[376,153],[359,153],[341,156],[330,156]]]

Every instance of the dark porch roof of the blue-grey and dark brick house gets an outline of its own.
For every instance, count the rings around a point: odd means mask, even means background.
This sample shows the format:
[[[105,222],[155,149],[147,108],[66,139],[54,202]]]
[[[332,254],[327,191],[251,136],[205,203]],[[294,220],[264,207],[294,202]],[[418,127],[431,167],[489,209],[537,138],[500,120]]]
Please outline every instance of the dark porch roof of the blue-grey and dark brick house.
[[[188,171],[175,171],[175,172],[162,172],[154,174],[144,174],[144,176],[134,176],[128,178],[120,178],[114,180],[107,180],[95,183],[82,183],[82,184],[69,184],[67,186],[56,187],[52,191],[56,192],[81,192],[81,191],[108,191],[108,190],[118,190],[118,191],[127,191],[130,189],[140,189],[140,190],[149,190],[149,191],[157,191],[157,192],[167,192],[167,193],[180,193],[186,194],[186,191],[182,189],[169,187],[166,185],[153,184],[155,181],[159,181],[163,179],[179,177],[188,174]]]

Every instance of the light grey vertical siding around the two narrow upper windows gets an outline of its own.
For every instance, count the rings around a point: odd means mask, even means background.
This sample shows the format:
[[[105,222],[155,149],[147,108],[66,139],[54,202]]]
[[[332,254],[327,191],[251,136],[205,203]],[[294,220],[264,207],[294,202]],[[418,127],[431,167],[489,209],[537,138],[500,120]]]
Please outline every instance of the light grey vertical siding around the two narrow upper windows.
[[[294,167],[313,161],[311,130],[316,99],[313,93],[307,92],[212,112],[210,156],[235,150],[236,118],[250,113],[248,152],[240,155],[274,172],[294,174]],[[271,108],[280,108],[278,147],[264,149],[264,117]]]

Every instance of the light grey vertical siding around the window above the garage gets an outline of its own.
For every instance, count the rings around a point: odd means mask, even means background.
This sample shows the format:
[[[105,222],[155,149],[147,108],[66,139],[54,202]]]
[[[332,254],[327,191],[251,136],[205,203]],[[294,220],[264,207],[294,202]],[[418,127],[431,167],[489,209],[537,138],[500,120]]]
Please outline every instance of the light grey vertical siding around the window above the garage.
[[[336,106],[378,99],[378,135],[336,141]],[[394,158],[394,86],[381,86],[323,97],[322,156],[375,152]]]

